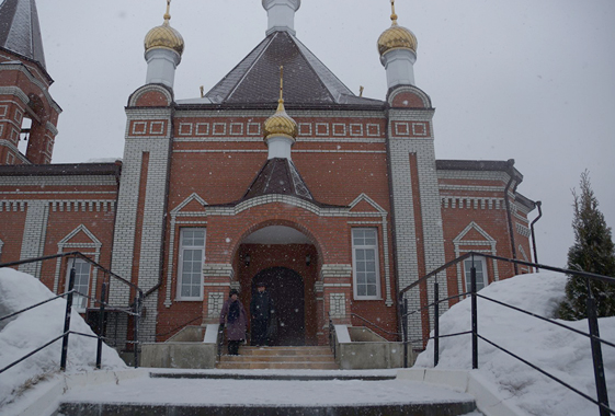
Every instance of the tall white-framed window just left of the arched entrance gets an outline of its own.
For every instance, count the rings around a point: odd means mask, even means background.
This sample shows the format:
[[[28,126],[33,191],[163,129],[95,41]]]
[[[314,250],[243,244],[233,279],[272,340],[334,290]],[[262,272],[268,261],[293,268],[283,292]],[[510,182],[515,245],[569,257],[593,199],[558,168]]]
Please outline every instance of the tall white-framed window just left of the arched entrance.
[[[178,299],[203,299],[203,263],[205,262],[205,229],[182,228],[178,269]]]

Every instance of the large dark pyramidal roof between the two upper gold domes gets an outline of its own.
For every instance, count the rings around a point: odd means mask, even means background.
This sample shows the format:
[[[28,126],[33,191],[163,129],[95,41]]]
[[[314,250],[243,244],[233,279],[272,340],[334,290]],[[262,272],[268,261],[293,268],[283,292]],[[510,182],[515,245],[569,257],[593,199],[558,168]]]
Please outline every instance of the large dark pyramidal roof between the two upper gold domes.
[[[214,104],[271,104],[280,94],[284,66],[284,102],[299,105],[383,105],[352,93],[307,47],[288,32],[261,42],[205,96]]]

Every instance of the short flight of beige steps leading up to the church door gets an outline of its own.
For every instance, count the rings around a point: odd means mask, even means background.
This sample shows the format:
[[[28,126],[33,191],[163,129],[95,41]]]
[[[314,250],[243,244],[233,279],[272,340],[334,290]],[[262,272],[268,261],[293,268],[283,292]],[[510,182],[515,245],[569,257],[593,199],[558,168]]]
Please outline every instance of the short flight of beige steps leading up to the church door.
[[[240,347],[239,356],[223,355],[224,370],[338,370],[329,347]]]

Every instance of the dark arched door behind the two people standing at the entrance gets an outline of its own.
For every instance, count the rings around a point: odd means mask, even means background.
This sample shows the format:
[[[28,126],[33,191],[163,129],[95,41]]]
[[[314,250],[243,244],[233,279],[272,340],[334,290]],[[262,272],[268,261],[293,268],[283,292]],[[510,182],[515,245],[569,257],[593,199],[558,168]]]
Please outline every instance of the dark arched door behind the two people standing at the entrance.
[[[272,345],[305,345],[305,290],[301,276],[286,267],[266,268],[252,279],[252,296],[259,282],[266,285],[275,307],[277,336]]]

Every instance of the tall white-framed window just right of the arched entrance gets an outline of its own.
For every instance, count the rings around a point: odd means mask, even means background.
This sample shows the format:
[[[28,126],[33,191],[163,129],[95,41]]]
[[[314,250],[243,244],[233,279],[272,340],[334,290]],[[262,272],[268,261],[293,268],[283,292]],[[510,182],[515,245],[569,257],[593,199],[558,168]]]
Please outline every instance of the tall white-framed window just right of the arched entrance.
[[[378,230],[352,229],[352,269],[355,299],[379,299]]]

